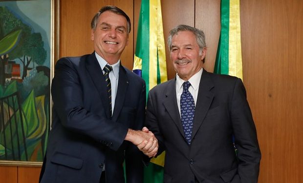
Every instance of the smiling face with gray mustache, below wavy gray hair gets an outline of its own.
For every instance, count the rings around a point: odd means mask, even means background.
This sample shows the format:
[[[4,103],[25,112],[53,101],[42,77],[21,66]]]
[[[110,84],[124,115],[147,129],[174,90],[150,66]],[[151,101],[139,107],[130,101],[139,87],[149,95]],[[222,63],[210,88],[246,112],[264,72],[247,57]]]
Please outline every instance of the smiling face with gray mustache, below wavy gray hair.
[[[191,31],[181,31],[172,37],[171,60],[178,76],[188,81],[203,66],[206,48],[200,51],[195,35]]]

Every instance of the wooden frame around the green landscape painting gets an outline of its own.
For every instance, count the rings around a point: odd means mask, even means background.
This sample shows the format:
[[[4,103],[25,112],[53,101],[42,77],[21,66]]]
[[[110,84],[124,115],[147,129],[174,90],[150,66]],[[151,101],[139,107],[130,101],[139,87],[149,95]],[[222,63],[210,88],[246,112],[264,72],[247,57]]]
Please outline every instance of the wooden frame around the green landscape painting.
[[[0,0],[2,1],[19,1],[19,0]],[[26,1],[26,0],[23,0]],[[30,1],[30,0],[28,0]],[[51,86],[51,81],[54,76],[54,63],[56,60],[59,59],[59,21],[60,21],[60,11],[59,5],[60,0],[49,0],[50,1],[50,73],[49,73],[49,86]],[[52,121],[52,98],[50,94],[50,87],[49,87],[49,130],[50,124]],[[3,126],[4,128],[4,126]],[[0,165],[7,165],[7,166],[41,166],[42,161],[6,161],[0,160]]]

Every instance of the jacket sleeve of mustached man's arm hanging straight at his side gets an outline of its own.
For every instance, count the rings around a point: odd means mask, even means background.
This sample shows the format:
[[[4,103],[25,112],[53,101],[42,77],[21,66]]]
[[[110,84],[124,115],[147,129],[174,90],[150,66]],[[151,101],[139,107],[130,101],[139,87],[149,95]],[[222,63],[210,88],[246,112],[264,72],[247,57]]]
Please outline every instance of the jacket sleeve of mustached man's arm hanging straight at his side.
[[[235,83],[230,110],[238,149],[238,175],[241,183],[257,183],[261,153],[246,90],[240,79]]]

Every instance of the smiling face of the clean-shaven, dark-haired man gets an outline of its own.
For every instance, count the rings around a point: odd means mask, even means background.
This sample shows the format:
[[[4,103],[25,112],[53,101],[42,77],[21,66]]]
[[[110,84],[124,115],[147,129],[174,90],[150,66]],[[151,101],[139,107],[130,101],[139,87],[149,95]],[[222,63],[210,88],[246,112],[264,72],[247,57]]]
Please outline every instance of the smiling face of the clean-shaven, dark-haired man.
[[[126,18],[111,11],[103,12],[95,30],[91,30],[91,40],[98,55],[109,64],[116,63],[129,43]]]

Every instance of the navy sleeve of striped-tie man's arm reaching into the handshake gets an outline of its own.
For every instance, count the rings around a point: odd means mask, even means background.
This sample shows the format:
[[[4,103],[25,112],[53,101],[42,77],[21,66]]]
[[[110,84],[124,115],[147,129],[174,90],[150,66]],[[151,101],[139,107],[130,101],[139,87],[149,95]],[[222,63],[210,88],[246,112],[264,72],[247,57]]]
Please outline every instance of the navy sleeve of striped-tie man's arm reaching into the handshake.
[[[53,109],[60,122],[70,131],[89,136],[97,142],[106,142],[109,148],[117,150],[128,128],[87,110],[84,107],[82,87],[75,65],[68,58],[60,59],[55,67],[51,87]]]

